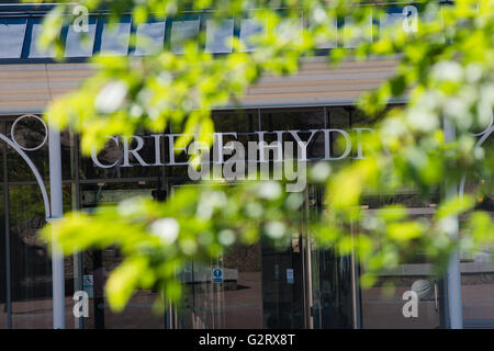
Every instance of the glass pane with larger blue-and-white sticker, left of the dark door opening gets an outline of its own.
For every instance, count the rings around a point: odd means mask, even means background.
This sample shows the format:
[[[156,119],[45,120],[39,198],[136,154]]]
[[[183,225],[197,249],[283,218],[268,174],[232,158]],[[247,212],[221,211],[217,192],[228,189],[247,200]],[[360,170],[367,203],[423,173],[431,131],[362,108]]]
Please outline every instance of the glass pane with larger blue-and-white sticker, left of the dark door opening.
[[[186,291],[180,327],[262,328],[260,253],[260,244],[235,245],[210,265],[191,262],[180,274]],[[214,279],[215,271],[221,278]]]

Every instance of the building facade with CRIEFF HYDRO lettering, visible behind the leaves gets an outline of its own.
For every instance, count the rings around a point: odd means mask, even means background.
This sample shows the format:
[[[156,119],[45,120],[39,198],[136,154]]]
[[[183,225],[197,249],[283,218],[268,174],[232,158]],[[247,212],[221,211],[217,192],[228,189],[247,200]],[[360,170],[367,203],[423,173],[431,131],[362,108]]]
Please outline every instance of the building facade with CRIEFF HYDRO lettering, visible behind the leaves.
[[[405,5],[396,5],[381,25],[400,20]],[[53,274],[46,244],[37,238],[45,225],[46,201],[40,186],[49,188],[48,128],[42,122],[47,104],[67,93],[89,77],[93,69],[88,58],[97,53],[144,55],[144,47],[131,47],[131,33],[147,35],[156,45],[170,45],[180,52],[183,33],[207,31],[202,15],[167,19],[134,27],[123,18],[116,32],[108,26],[105,15],[89,21],[89,46],[82,45],[74,29],[61,29],[66,41],[66,60],[56,63],[49,53],[37,49],[41,21],[50,5],[0,5],[0,328],[52,328]],[[339,26],[338,23],[335,24]],[[372,27],[372,26],[370,26]],[[249,23],[233,21],[222,31],[206,34],[206,49],[225,54],[225,36],[247,35]],[[122,39],[123,38],[123,39]],[[337,43],[322,46],[322,53]],[[349,44],[348,46],[351,46]],[[394,71],[396,58],[374,58],[366,63],[345,61],[329,69],[323,56],[304,60],[293,77],[265,77],[249,89],[242,111],[224,106],[214,112],[216,132],[236,133],[242,143],[262,134],[273,140],[289,131],[307,140],[310,160],[329,157],[337,161],[358,158],[338,148],[335,139],[341,131],[371,128],[355,105],[359,95],[379,87]],[[405,101],[395,101],[395,104]],[[313,133],[311,131],[318,131]],[[130,156],[122,163],[122,143],[109,145],[96,157],[83,157],[79,138],[71,131],[60,134],[60,165],[64,212],[91,212],[97,205],[113,205],[133,195],[162,200],[180,186],[195,186],[187,173],[186,156],[170,161],[170,129],[162,138],[139,134],[144,146],[139,158]],[[328,138],[325,138],[327,133]],[[10,143],[9,143],[10,140]],[[359,143],[349,139],[348,143]],[[157,143],[157,144],[156,144]],[[491,143],[492,141],[486,141]],[[161,150],[157,156],[157,149]],[[366,151],[364,151],[366,152]],[[171,152],[172,154],[172,152]],[[346,155],[344,155],[346,154]],[[31,165],[29,160],[31,161]],[[159,162],[157,162],[159,159]],[[225,185],[227,186],[227,185]],[[116,248],[93,250],[64,260],[66,328],[446,328],[449,310],[447,288],[433,279],[430,265],[417,257],[383,274],[370,290],[359,286],[364,271],[353,256],[341,257],[317,247],[311,239],[311,218],[324,212],[323,190],[305,190],[306,207],[300,214],[300,233],[277,250],[265,244],[234,246],[210,265],[191,262],[182,272],[186,294],[180,304],[167,306],[161,314],[153,310],[154,291],[138,291],[122,314],[114,314],[105,303],[103,286],[113,268],[121,262]],[[430,216],[439,193],[428,201],[413,192],[374,194],[366,208],[383,204],[407,204],[412,216]],[[493,212],[492,197],[483,202]],[[355,235],[356,227],[350,228]],[[464,327],[494,327],[494,265],[490,252],[461,257],[461,296]],[[216,274],[216,273],[217,274]],[[389,286],[394,285],[394,290]],[[419,295],[418,316],[405,317],[403,294],[414,290]],[[89,316],[77,317],[74,294],[89,296]]]

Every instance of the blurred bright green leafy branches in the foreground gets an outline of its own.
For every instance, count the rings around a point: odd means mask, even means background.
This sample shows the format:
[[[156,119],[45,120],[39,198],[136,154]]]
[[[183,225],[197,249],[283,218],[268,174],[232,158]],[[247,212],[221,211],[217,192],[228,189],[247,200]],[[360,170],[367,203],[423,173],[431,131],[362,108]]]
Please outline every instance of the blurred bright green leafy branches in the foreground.
[[[263,75],[295,73],[301,58],[314,55],[318,43],[333,37],[337,18],[350,15],[356,23],[346,26],[341,37],[368,35],[359,27],[371,9],[359,1],[316,0],[80,2],[90,10],[110,5],[116,16],[130,10],[136,22],[213,8],[217,11],[211,16],[217,21],[255,16],[263,29],[254,39],[254,52],[243,50],[245,43],[234,41],[232,54],[213,56],[200,49],[204,41],[200,35],[186,43],[183,55],[167,47],[143,58],[94,58],[94,77],[55,101],[46,113],[50,123],[79,132],[86,152],[93,145],[101,147],[106,135],[132,135],[142,127],[162,133],[168,124],[211,144],[212,109],[238,101]],[[384,3],[372,7],[374,18]],[[276,10],[281,7],[285,9]],[[492,144],[478,145],[478,139],[487,139],[493,132],[494,1],[461,0],[442,10],[436,1],[424,1],[420,7],[424,15],[416,31],[393,27],[371,44],[335,48],[327,56],[330,64],[338,64],[348,55],[368,59],[398,54],[395,76],[359,102],[369,117],[383,113],[393,99],[408,95],[403,109],[386,111],[374,126],[377,132],[366,137],[371,158],[338,169],[319,163],[310,172],[310,181],[325,186],[327,206],[326,214],[313,223],[311,235],[343,254],[353,250],[366,267],[364,285],[417,252],[441,272],[453,250],[490,246],[494,237],[490,214],[476,208],[493,191],[492,147],[485,147]],[[249,11],[252,8],[259,10]],[[45,44],[60,44],[50,29],[70,20],[65,10],[61,3],[47,16]],[[292,23],[301,12],[308,25],[297,31]],[[454,125],[454,140],[445,137],[444,118]],[[177,147],[189,141],[190,137],[180,138]],[[464,174],[479,181],[469,194],[458,196],[450,190]],[[444,200],[431,217],[419,219],[412,219],[400,203],[370,215],[360,206],[368,193],[403,189],[424,197],[439,190]],[[182,189],[164,204],[134,199],[114,208],[99,208],[92,216],[72,213],[46,227],[44,235],[66,254],[119,246],[125,260],[112,273],[106,290],[111,306],[122,309],[135,288],[157,285],[164,296],[177,298],[180,284],[175,272],[192,257],[207,261],[235,241],[290,237],[297,230],[293,218],[302,200],[276,182],[239,184],[227,192],[209,183]],[[464,225],[456,237],[459,216]],[[351,224],[358,224],[356,237],[346,229]]]

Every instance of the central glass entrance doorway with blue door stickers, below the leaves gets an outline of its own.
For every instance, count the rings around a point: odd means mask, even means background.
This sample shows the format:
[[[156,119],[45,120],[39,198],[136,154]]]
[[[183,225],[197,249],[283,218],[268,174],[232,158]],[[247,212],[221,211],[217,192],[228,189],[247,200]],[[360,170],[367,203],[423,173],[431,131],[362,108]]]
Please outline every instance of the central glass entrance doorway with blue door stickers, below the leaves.
[[[180,273],[187,293],[175,306],[171,326],[356,328],[360,316],[353,258],[313,242],[308,223],[322,210],[322,192],[311,188],[305,195],[300,230],[288,245],[236,245],[210,264],[191,262]]]

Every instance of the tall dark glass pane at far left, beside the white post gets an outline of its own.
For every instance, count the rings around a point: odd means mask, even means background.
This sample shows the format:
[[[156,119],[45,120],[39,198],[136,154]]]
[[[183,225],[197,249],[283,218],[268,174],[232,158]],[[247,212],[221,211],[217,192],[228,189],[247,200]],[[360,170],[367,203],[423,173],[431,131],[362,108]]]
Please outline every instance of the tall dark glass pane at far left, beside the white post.
[[[46,220],[38,185],[9,186],[12,327],[52,328],[52,260],[38,237]]]

